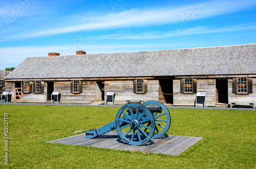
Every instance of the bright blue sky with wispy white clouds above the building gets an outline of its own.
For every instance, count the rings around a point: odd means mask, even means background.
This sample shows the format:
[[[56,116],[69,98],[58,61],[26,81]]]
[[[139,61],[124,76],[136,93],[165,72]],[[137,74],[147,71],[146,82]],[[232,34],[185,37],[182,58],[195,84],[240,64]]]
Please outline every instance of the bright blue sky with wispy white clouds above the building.
[[[27,57],[256,43],[256,1],[0,0],[0,70]]]

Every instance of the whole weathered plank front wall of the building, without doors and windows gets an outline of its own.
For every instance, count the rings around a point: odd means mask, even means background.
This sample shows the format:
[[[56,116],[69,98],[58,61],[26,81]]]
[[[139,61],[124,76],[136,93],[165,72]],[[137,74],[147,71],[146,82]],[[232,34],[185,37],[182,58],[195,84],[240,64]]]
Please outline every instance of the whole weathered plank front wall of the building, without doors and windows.
[[[61,103],[93,103],[96,101],[96,81],[83,81],[82,93],[72,93],[70,81],[54,82],[54,90],[60,90]],[[47,102],[47,83],[44,83],[43,93],[22,93],[22,100],[14,100],[15,82],[6,82],[6,91],[12,94],[12,102]],[[170,86],[171,87],[171,86]],[[197,79],[197,91],[207,91],[206,106],[215,106],[215,79]],[[232,93],[232,79],[228,79],[228,102],[256,102],[256,78],[252,80],[253,92],[249,94]],[[147,93],[136,94],[133,92],[133,80],[111,80],[105,81],[105,93],[115,91],[115,104],[124,104],[126,100],[143,100],[144,102],[155,100],[164,102],[163,95],[159,94],[161,87],[158,80],[147,81]],[[180,80],[173,80],[173,93],[180,91]],[[196,93],[173,95],[174,106],[194,106]],[[201,106],[201,105],[200,105]]]

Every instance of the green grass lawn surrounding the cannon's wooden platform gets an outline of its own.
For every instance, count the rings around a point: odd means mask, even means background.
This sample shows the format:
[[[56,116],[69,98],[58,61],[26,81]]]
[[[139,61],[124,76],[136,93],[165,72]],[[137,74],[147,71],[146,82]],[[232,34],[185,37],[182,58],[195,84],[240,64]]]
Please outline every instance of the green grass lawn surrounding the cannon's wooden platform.
[[[46,141],[115,119],[118,107],[0,105],[0,167],[8,113],[9,168],[256,168],[256,111],[169,109],[167,134],[204,137],[179,156],[70,146]]]

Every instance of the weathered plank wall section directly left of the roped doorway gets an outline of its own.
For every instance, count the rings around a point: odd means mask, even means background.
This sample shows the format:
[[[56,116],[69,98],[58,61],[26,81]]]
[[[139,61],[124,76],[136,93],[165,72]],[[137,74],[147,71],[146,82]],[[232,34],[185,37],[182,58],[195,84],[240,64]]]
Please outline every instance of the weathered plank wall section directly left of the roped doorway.
[[[105,81],[105,94],[115,91],[115,103],[125,103],[126,100],[158,101],[158,80],[147,80],[147,93],[136,94],[133,92],[133,80]]]

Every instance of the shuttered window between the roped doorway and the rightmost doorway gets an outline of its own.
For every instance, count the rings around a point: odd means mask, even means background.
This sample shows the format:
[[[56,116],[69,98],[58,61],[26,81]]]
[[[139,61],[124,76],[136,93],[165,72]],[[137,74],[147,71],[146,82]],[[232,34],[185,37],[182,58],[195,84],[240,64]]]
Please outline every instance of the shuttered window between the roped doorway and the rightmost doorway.
[[[180,92],[181,93],[196,93],[197,92],[197,80],[196,79],[181,79],[180,80]]]

